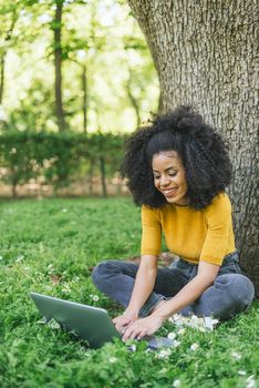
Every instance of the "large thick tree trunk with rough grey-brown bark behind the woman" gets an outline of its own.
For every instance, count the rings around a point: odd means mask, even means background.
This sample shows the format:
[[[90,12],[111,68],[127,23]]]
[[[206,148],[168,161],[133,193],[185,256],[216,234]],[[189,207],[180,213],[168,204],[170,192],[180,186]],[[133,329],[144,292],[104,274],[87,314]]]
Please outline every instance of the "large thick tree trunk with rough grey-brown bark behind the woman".
[[[188,104],[230,144],[229,187],[241,267],[259,295],[257,2],[128,0],[160,83],[160,110]]]

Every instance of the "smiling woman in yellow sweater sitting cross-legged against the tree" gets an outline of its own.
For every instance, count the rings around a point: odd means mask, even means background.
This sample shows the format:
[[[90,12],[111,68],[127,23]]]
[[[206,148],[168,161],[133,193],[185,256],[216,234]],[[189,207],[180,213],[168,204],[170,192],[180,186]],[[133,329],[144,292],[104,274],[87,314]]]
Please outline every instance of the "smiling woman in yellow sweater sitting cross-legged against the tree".
[[[139,266],[107,261],[94,284],[126,307],[114,319],[124,339],[155,333],[173,314],[229,319],[252,302],[252,283],[240,274],[225,188],[231,165],[221,137],[200,115],[180,106],[132,135],[123,175],[142,205]],[[158,268],[164,233],[179,256]]]

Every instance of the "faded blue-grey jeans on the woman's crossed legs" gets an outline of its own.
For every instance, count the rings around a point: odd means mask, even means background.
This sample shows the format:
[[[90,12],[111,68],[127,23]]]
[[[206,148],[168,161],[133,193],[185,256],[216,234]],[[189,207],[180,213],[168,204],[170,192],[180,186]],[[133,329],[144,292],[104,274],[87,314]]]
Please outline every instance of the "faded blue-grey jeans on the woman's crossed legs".
[[[123,261],[106,261],[100,263],[93,270],[95,286],[124,307],[128,306],[135,283],[138,265]],[[162,300],[176,295],[198,270],[198,265],[179,258],[168,268],[158,267],[154,289],[139,312],[146,317]],[[214,284],[191,305],[179,314],[197,316],[214,316],[229,319],[244,312],[251,304],[255,288],[248,277],[241,275],[237,252],[227,255],[219,268]]]

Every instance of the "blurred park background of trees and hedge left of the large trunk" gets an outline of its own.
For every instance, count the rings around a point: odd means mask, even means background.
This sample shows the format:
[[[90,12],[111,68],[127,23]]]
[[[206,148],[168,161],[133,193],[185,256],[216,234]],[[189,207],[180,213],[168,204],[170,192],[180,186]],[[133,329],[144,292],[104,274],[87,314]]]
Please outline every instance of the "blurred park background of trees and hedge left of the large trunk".
[[[126,1],[0,0],[0,196],[120,195],[123,144],[158,108]]]

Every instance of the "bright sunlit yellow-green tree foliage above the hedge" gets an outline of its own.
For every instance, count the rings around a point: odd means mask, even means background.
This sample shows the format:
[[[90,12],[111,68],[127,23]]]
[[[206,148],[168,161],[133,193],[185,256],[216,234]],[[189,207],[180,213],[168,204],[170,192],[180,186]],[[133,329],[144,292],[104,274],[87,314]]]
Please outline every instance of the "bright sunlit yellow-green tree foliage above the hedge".
[[[132,131],[157,111],[158,80],[143,34],[125,1],[64,3],[62,99],[68,129]],[[0,0],[0,130],[54,132],[54,0]],[[82,54],[84,53],[84,54]],[[82,82],[86,69],[86,90]],[[131,80],[130,80],[131,79]],[[0,93],[0,94],[1,94]],[[32,123],[34,122],[34,124]]]

